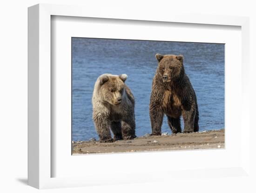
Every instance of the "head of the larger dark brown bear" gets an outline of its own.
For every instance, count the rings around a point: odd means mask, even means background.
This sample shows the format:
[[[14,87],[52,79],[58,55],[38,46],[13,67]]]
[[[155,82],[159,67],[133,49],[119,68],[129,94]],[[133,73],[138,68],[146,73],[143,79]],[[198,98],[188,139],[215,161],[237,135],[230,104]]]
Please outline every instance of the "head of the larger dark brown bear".
[[[155,54],[155,58],[158,61],[158,72],[163,82],[176,81],[184,76],[182,55]]]

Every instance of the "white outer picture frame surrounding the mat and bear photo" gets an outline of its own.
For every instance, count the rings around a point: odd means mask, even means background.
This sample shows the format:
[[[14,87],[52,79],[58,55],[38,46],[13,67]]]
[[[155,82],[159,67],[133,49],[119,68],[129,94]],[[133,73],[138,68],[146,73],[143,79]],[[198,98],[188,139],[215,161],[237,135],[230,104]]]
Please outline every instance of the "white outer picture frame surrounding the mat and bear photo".
[[[51,16],[129,19],[155,22],[190,23],[202,25],[240,26],[242,32],[242,89],[239,118],[243,124],[240,136],[241,160],[232,167],[204,167],[191,170],[171,169],[123,173],[125,176],[101,177],[96,174],[73,177],[53,177],[51,135]],[[186,15],[175,13],[129,13],[122,10],[95,10],[83,6],[39,4],[28,8],[28,185],[36,188],[78,187],[120,183],[164,181],[187,176],[187,180],[202,177],[250,178],[249,169],[249,18],[216,15]],[[246,99],[246,100],[245,100]],[[241,127],[240,125],[240,127]],[[152,153],[151,153],[152,154]],[[191,152],[190,154],[196,154]],[[147,156],[144,154],[144,156]],[[193,155],[192,155],[193,156]],[[77,156],[79,157],[79,156]],[[106,157],[106,156],[105,156]],[[79,159],[79,158],[77,158]],[[139,159],[139,158],[138,158]],[[152,175],[149,175],[152,174]],[[158,176],[158,177],[156,177]],[[161,177],[159,177],[161,176]],[[178,177],[179,178],[179,177]],[[230,182],[231,183],[231,182]]]

